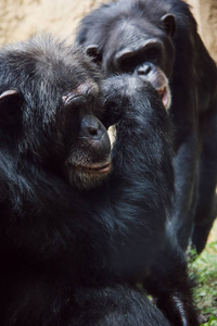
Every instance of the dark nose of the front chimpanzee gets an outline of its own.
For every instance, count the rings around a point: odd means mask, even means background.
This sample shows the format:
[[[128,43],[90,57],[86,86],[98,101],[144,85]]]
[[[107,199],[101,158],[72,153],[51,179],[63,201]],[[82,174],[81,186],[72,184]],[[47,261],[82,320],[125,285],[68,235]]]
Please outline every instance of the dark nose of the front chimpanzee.
[[[105,131],[103,124],[93,115],[86,115],[81,120],[79,137],[99,140]]]

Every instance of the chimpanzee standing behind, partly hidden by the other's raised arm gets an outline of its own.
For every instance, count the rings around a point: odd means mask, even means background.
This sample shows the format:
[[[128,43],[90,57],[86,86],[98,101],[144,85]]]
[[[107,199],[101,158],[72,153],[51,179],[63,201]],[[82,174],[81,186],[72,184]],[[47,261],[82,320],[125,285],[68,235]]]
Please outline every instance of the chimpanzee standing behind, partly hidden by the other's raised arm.
[[[158,90],[175,126],[178,240],[200,253],[216,216],[217,70],[181,0],[111,2],[86,16],[77,41],[108,73],[132,73]],[[173,101],[170,101],[170,93]]]

